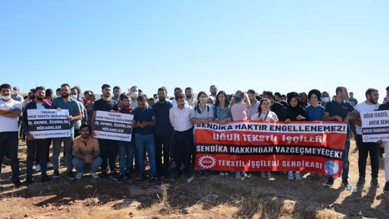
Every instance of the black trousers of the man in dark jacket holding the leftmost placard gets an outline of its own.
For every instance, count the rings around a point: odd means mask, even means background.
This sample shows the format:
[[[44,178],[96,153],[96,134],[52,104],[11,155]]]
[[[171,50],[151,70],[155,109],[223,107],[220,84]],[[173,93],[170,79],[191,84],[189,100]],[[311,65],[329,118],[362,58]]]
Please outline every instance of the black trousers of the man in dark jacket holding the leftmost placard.
[[[46,175],[47,171],[47,151],[49,145],[49,139],[34,139],[27,140],[27,163],[26,163],[26,172],[27,177],[32,178],[32,166],[34,162],[35,154],[39,153],[40,159],[40,170],[42,171],[41,175]],[[50,145],[49,145],[50,146]]]

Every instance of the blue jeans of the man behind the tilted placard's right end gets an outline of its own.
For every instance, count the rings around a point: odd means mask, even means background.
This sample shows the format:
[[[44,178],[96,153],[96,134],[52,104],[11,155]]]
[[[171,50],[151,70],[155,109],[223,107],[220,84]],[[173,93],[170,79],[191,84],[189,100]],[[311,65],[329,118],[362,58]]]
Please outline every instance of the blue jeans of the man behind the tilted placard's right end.
[[[133,162],[134,140],[131,141],[117,141],[119,147],[119,172],[121,175],[130,173]],[[125,170],[124,170],[125,168]]]

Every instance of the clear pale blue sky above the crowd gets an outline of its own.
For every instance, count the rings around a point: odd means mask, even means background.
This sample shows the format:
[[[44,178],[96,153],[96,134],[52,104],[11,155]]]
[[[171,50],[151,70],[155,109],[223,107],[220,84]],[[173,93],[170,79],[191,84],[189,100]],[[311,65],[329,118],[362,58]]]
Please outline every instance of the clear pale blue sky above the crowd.
[[[389,1],[1,0],[0,83],[272,90],[389,85]]]

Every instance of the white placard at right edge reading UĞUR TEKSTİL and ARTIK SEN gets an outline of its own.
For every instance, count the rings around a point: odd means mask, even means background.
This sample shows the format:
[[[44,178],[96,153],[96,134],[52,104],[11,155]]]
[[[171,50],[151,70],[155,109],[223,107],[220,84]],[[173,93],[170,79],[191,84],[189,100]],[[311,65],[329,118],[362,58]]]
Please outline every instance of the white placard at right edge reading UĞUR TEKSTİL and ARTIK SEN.
[[[389,110],[363,112],[361,120],[363,142],[389,140]]]

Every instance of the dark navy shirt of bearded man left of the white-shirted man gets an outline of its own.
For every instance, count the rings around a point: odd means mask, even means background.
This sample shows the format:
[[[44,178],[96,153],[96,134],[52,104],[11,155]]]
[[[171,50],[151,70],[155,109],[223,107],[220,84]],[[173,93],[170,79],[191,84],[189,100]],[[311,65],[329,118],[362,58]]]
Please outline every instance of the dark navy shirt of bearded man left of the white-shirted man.
[[[155,111],[155,117],[157,119],[157,124],[154,126],[154,134],[170,136],[172,134],[172,124],[169,119],[169,110],[173,108],[172,103],[168,101],[165,101],[164,103],[157,102],[152,105],[152,108]]]

